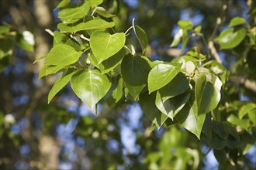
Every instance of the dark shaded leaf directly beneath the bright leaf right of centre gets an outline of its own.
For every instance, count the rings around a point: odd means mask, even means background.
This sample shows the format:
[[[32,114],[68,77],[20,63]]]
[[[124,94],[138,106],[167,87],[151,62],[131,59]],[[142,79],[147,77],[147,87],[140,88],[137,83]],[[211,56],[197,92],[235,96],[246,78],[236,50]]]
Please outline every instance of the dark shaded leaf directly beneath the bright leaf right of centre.
[[[184,93],[189,88],[189,81],[183,73],[178,73],[170,83],[158,90],[163,101],[178,94]]]

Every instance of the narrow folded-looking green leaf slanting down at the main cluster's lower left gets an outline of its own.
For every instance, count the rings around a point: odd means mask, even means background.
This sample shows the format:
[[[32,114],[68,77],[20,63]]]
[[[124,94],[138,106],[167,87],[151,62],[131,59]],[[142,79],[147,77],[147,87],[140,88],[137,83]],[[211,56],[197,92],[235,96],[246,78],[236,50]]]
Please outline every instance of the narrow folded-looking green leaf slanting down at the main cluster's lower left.
[[[71,76],[74,74],[74,70],[67,70],[61,76],[57,78],[54,83],[54,86],[50,89],[48,94],[48,104],[50,100],[54,98],[54,96],[71,80]]]

